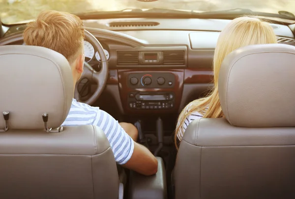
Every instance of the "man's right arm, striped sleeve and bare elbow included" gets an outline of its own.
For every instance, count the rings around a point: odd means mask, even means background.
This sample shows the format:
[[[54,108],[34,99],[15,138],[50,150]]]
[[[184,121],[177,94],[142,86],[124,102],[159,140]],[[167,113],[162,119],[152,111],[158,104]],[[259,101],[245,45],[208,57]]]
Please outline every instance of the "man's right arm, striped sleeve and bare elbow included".
[[[146,147],[134,142],[110,114],[98,110],[92,124],[100,127],[106,134],[119,165],[144,175],[157,172],[157,159]]]

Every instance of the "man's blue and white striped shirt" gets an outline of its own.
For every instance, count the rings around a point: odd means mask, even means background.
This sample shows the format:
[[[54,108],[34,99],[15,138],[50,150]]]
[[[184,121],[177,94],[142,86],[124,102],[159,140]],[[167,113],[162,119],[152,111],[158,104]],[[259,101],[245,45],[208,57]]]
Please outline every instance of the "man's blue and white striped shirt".
[[[91,107],[73,99],[70,112],[62,125],[96,125],[106,134],[115,160],[119,165],[128,162],[132,156],[134,149],[132,138],[124,131],[114,117],[98,107]]]

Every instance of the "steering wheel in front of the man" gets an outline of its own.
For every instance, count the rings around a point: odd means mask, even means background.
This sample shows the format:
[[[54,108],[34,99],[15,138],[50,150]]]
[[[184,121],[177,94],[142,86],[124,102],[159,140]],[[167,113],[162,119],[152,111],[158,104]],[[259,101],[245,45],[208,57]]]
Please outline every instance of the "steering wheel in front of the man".
[[[101,70],[99,72],[95,71],[89,63],[84,63],[84,71],[82,73],[82,76],[80,80],[76,83],[75,86],[75,92],[74,92],[74,98],[77,100],[77,102],[83,102],[86,104],[93,104],[100,94],[102,93],[104,87],[107,84],[108,79],[108,59],[104,53],[104,50],[99,43],[99,41],[87,30],[84,30],[85,40],[88,41],[94,48],[94,56],[95,52],[98,52],[100,60],[101,60]],[[88,100],[81,100],[81,96],[78,92],[78,85],[83,79],[88,79],[89,82],[95,82],[97,83],[97,88],[95,92],[89,97]]]

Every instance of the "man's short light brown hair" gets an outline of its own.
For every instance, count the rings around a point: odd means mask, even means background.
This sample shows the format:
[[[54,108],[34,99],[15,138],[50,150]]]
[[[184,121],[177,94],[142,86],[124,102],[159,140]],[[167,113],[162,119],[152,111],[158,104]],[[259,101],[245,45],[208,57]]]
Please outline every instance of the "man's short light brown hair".
[[[76,15],[55,10],[42,11],[24,31],[26,45],[42,46],[63,55],[71,64],[82,53],[83,22]]]

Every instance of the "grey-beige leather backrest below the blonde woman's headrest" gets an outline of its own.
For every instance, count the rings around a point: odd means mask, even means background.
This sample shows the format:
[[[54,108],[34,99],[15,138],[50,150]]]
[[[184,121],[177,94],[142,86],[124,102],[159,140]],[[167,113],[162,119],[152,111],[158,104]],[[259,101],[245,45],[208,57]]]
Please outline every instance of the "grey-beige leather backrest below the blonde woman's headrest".
[[[294,157],[294,127],[193,121],[177,153],[176,199],[293,199]]]

